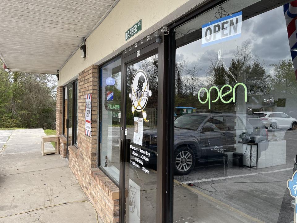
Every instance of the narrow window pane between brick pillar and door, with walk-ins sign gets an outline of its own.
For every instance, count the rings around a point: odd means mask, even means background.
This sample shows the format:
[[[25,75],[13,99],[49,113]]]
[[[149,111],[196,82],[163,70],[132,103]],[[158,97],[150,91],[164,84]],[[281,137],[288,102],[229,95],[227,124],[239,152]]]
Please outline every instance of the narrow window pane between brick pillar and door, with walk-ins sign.
[[[100,69],[101,148],[100,165],[119,182],[119,139],[121,100],[121,59]]]

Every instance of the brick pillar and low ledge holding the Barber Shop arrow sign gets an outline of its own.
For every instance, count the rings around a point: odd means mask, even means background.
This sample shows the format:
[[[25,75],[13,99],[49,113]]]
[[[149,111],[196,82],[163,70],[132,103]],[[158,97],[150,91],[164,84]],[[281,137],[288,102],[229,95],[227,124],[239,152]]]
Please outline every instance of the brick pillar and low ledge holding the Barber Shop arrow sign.
[[[92,65],[79,73],[77,147],[69,146],[69,167],[105,223],[118,222],[118,187],[97,168],[98,69]],[[92,136],[85,135],[85,95],[92,94]]]

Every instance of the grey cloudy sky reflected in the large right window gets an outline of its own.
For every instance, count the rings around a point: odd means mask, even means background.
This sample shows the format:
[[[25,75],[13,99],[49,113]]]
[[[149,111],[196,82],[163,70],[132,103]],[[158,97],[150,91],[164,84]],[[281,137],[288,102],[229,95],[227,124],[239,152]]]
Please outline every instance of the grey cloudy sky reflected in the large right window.
[[[271,64],[291,59],[283,7],[243,21],[239,38],[203,48],[201,40],[182,46],[176,49],[176,60],[187,61],[189,68],[198,65],[202,69],[199,75],[203,77],[209,68],[209,60],[217,57],[218,50],[221,49],[223,61],[229,67],[236,46],[240,46],[245,40],[251,42],[252,54],[259,55],[268,73],[273,74]]]

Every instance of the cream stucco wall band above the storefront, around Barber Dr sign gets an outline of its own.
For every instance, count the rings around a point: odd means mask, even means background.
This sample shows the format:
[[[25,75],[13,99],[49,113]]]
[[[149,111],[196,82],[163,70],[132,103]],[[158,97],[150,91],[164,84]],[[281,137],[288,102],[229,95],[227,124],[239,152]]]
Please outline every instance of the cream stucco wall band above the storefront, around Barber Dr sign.
[[[117,55],[201,2],[204,0],[120,0],[87,38],[87,57],[81,58],[80,50],[77,50],[62,68],[58,86],[66,84],[92,64],[100,64]],[[142,19],[142,30],[129,41],[125,41],[125,31],[140,19]]]

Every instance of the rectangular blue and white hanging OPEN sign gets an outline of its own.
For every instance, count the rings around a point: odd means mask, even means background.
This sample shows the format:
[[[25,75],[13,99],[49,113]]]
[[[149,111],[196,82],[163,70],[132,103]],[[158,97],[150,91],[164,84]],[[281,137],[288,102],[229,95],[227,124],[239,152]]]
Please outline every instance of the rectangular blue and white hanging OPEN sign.
[[[241,35],[242,11],[202,25],[202,47]]]

